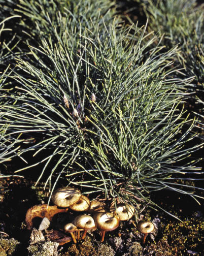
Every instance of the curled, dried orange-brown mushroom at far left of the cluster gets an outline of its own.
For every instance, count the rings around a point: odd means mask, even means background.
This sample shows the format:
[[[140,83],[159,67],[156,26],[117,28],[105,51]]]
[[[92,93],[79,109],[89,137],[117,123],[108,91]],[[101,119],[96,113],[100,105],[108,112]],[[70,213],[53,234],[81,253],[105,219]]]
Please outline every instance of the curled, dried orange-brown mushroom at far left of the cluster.
[[[56,205],[48,206],[47,204],[35,205],[27,210],[25,215],[26,227],[31,230],[35,226],[35,219],[47,217],[49,221],[52,220],[53,216],[57,213],[67,212],[68,208],[59,209]]]

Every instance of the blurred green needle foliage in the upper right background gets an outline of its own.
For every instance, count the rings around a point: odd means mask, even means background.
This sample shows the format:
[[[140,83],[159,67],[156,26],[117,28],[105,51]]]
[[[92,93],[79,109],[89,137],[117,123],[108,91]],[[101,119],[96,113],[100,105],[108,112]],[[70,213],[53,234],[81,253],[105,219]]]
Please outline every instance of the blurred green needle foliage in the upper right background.
[[[204,129],[204,5],[194,0],[148,0],[144,7],[150,30],[164,34],[162,44],[167,49],[177,44],[180,47],[175,61],[184,67],[186,77],[194,76],[190,102],[192,112],[200,119],[199,127]]]

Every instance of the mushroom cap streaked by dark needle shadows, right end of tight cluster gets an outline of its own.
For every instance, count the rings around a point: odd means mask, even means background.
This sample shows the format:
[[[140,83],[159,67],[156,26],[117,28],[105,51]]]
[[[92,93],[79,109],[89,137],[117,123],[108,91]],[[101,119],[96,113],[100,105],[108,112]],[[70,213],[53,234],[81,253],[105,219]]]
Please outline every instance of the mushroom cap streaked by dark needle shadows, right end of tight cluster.
[[[110,207],[110,211],[116,214],[119,220],[128,220],[134,214],[134,207],[128,204],[117,204]]]

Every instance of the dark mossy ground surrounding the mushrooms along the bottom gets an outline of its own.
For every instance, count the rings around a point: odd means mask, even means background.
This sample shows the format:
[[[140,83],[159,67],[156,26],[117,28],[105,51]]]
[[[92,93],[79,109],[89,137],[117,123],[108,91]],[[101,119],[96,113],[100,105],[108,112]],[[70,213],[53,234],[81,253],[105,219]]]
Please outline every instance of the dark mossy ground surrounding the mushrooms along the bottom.
[[[7,233],[9,237],[1,234],[0,255],[16,255],[16,253],[30,255],[27,250],[30,232],[25,227],[25,214],[29,207],[47,203],[47,191],[43,190],[43,184],[35,187],[32,182],[23,178],[2,179],[1,183],[1,186],[7,187],[5,190],[8,191],[1,194],[0,231]],[[196,255],[203,255],[203,202],[201,201],[199,206],[186,196],[179,197],[173,193],[169,194],[168,191],[160,196],[155,194],[154,197],[161,206],[176,214],[183,222],[147,207],[139,216],[153,221],[156,230],[148,235],[145,245],[142,244],[142,235],[135,228],[136,222],[132,219],[121,222],[115,231],[107,232],[104,243],[100,242],[99,233],[95,231],[89,233],[84,241],[58,247],[58,254],[61,256],[183,256],[190,255],[187,253],[190,250],[197,252]],[[36,246],[39,253],[41,246]],[[46,252],[42,251],[42,253]]]

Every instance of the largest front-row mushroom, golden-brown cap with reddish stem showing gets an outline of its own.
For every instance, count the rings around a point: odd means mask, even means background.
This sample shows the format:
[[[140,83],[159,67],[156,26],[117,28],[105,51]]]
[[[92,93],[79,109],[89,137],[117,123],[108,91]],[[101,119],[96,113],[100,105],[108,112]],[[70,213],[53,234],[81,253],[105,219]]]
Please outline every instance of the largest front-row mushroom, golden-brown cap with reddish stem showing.
[[[98,229],[101,230],[101,242],[104,242],[105,233],[118,228],[120,220],[112,212],[98,212],[94,215]]]

